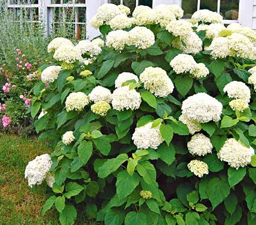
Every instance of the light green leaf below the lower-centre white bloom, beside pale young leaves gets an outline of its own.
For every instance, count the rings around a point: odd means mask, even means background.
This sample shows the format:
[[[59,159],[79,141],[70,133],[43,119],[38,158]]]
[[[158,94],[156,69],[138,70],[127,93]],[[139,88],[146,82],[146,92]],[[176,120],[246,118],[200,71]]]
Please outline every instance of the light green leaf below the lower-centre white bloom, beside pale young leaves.
[[[137,165],[137,170],[140,176],[143,177],[147,184],[155,184],[157,174],[155,172],[155,167],[149,163],[149,161],[142,161]]]

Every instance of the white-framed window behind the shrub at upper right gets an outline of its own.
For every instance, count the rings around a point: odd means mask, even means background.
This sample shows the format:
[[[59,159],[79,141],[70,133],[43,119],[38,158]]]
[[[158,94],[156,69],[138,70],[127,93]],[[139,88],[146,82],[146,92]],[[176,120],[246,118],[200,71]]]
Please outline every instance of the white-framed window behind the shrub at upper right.
[[[239,18],[239,0],[182,0],[184,18],[191,18],[197,10],[211,10],[220,13],[225,23],[237,22]]]

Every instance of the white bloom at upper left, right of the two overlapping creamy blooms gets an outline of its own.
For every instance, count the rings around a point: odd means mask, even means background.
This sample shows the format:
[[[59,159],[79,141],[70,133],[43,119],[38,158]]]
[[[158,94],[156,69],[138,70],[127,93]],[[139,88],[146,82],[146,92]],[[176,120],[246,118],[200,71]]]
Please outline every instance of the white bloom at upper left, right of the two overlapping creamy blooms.
[[[75,48],[79,49],[82,55],[86,54],[90,57],[101,53],[101,47],[89,40],[79,41]]]

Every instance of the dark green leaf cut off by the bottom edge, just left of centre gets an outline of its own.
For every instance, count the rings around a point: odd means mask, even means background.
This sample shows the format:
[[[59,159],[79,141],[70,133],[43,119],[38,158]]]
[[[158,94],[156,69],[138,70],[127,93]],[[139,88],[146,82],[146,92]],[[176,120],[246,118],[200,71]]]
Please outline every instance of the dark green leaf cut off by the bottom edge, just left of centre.
[[[122,208],[110,209],[105,216],[105,225],[121,225],[125,220],[125,211]]]

